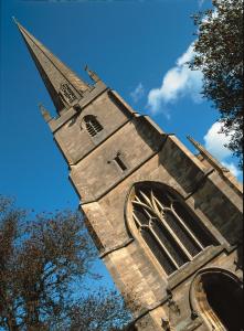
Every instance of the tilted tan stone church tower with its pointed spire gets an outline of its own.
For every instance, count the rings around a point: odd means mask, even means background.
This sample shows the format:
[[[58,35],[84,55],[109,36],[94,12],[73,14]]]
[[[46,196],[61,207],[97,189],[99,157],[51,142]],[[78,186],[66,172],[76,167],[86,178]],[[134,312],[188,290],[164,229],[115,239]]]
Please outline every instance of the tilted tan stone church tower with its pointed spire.
[[[55,105],[41,107],[131,330],[243,330],[242,192],[203,147],[87,84],[17,23]],[[85,331],[85,330],[84,330]]]

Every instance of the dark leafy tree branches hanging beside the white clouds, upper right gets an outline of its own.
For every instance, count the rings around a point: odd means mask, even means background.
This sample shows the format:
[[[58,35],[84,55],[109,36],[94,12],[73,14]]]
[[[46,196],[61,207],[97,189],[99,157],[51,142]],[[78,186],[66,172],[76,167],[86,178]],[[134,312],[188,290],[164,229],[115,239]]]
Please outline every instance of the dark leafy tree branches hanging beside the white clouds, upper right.
[[[203,73],[203,96],[220,111],[227,147],[243,166],[243,0],[212,0],[193,15],[198,26],[192,70]]]

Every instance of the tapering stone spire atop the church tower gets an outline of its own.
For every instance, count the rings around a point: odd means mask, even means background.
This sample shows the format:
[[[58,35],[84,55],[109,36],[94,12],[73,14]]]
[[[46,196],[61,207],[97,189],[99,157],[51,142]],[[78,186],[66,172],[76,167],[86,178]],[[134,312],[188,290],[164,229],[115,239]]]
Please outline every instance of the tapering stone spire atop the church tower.
[[[28,32],[14,18],[57,113],[68,109],[91,87]]]

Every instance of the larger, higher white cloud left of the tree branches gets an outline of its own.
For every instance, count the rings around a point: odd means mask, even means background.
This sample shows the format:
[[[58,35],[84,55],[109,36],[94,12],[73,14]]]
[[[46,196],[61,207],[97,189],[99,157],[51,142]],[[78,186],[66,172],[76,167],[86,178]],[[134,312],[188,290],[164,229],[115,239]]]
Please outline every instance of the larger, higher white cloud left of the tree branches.
[[[189,95],[195,103],[201,102],[202,73],[191,71],[185,64],[193,55],[192,43],[187,52],[177,60],[177,65],[166,73],[161,86],[149,92],[148,107],[151,113],[163,111],[166,104],[174,103],[179,97],[185,95]]]

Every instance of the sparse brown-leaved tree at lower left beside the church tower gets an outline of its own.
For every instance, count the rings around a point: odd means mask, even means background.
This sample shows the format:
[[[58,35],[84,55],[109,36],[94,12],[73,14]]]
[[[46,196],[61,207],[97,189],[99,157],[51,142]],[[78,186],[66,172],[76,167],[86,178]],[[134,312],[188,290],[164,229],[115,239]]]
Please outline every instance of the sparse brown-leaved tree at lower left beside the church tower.
[[[96,256],[81,213],[29,220],[0,195],[0,327],[105,331],[125,324],[130,314],[118,293],[85,291],[85,278],[98,277],[89,271]]]

